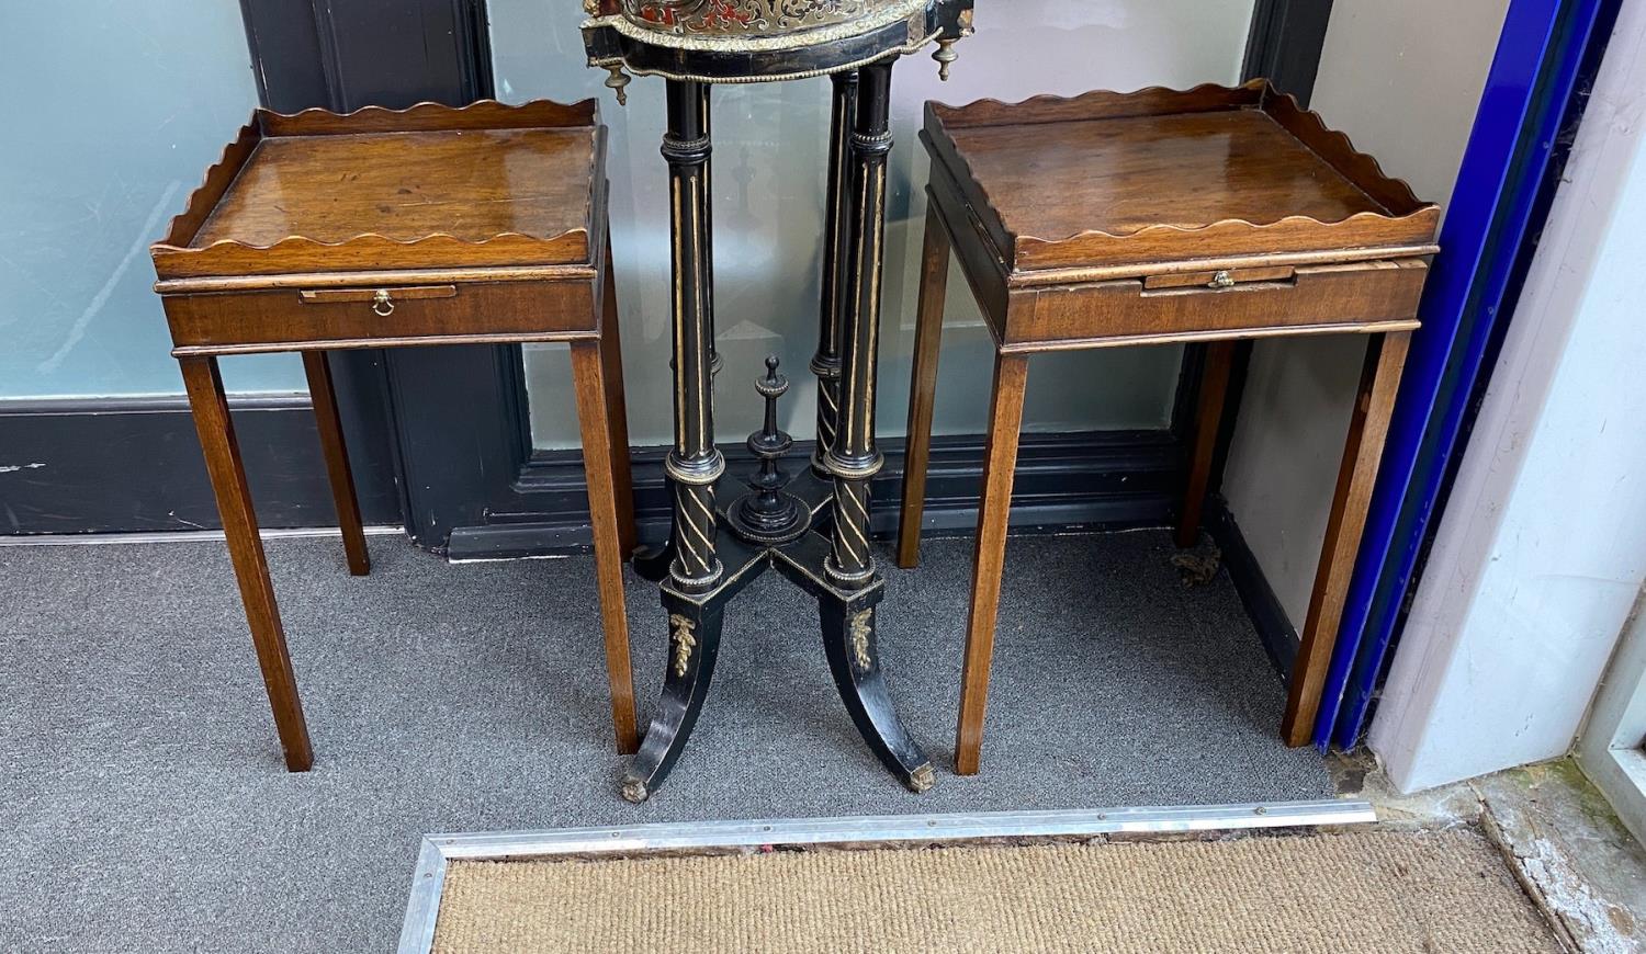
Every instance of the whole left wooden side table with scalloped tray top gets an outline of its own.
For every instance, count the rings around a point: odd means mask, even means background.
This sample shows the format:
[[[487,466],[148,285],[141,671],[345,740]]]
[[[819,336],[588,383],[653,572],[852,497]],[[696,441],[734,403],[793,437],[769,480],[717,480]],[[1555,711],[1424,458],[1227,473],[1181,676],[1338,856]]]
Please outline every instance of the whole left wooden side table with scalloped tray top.
[[[349,571],[369,571],[326,352],[568,342],[617,747],[635,748],[634,546],[606,128],[578,105],[257,110],[151,247],[286,768],[314,760],[217,359],[301,352]]]

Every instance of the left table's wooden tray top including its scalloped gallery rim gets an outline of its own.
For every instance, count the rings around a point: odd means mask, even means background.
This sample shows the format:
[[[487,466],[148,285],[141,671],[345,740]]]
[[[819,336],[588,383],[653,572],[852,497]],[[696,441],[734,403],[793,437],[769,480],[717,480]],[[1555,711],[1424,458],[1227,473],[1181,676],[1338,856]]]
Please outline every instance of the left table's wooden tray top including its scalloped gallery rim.
[[[153,247],[161,280],[591,260],[593,102],[258,110]]]

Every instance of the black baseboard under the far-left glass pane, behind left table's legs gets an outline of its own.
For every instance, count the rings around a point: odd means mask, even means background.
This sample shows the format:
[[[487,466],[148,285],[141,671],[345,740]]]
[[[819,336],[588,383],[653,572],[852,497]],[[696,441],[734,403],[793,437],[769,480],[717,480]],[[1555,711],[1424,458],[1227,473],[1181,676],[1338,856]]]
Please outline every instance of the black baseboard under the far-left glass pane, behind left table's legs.
[[[308,396],[230,406],[262,526],[336,526]],[[390,464],[352,457],[365,521],[400,523]],[[0,401],[0,533],[219,526],[184,398]]]

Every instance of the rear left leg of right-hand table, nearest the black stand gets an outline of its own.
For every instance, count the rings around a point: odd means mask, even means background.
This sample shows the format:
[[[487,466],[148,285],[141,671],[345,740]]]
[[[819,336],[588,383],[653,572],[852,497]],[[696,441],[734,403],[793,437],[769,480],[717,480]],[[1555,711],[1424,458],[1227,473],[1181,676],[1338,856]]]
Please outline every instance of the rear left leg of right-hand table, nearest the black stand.
[[[927,204],[925,252],[920,262],[920,311],[915,322],[915,370],[909,388],[909,442],[904,457],[904,507],[897,521],[897,566],[920,566],[920,520],[925,516],[925,475],[932,462],[932,406],[937,400],[938,344],[943,337],[943,298],[948,291],[948,232],[937,204]]]

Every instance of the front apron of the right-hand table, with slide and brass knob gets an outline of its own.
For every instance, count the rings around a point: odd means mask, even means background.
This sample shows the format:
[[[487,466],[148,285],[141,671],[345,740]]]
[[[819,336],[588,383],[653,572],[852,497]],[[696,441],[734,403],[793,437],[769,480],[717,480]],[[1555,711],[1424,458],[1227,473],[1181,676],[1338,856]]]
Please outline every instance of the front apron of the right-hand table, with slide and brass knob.
[[[1053,286],[1012,309],[1004,344],[1164,342],[1409,322],[1427,276],[1429,266],[1412,258]]]

